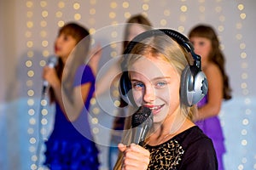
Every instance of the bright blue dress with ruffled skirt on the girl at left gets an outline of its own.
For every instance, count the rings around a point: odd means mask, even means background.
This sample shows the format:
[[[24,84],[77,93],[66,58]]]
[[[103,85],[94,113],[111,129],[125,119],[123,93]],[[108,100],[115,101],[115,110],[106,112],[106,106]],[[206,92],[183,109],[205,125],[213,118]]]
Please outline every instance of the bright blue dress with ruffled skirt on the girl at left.
[[[74,122],[69,122],[56,103],[55,125],[49,140],[45,142],[44,165],[56,170],[78,170],[99,168],[98,150],[90,131],[88,120],[90,99],[95,90],[95,77],[88,65],[81,65],[74,79],[74,87],[91,83],[90,93],[84,109]]]

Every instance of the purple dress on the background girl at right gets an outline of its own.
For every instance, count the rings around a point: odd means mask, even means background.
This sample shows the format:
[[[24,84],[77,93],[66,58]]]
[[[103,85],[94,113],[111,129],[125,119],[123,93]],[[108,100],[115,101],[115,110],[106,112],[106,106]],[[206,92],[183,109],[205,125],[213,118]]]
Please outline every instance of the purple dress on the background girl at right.
[[[201,99],[197,104],[198,108],[207,104],[207,95]],[[225,153],[224,146],[224,134],[218,116],[212,116],[207,119],[195,122],[195,124],[201,128],[201,130],[207,134],[207,136],[212,139],[214,149],[216,150],[216,155],[218,158],[218,170],[223,170],[223,155]]]

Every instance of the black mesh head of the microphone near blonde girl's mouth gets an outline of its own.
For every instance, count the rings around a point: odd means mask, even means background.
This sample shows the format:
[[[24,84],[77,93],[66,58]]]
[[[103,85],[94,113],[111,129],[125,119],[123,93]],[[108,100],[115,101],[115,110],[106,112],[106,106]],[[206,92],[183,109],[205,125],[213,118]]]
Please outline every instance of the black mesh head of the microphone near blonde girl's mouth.
[[[131,117],[131,127],[137,127],[143,123],[151,127],[153,125],[153,115],[148,107],[140,106]]]

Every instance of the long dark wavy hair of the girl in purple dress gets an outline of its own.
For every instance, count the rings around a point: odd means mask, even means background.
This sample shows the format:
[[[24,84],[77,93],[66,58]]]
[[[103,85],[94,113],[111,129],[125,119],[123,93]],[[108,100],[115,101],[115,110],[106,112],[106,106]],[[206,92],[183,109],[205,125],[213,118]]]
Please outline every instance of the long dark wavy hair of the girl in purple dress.
[[[228,100],[231,99],[231,88],[230,88],[230,82],[229,77],[227,76],[225,72],[225,58],[224,54],[222,53],[221,49],[219,48],[219,41],[217,34],[215,33],[212,26],[206,26],[206,25],[198,25],[195,26],[190,32],[189,32],[189,38],[191,37],[205,37],[209,39],[212,42],[212,52],[210,53],[209,60],[218,65],[218,68],[221,71],[221,74],[223,76],[224,80],[224,86],[223,86],[223,94],[224,99]]]

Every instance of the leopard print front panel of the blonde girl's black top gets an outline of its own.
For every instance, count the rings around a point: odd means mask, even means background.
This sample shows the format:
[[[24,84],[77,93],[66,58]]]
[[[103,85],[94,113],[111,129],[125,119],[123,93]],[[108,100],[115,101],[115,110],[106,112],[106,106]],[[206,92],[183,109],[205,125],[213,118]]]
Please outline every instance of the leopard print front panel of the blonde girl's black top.
[[[145,145],[150,152],[148,169],[177,169],[184,153],[177,140],[169,140],[157,146]]]

